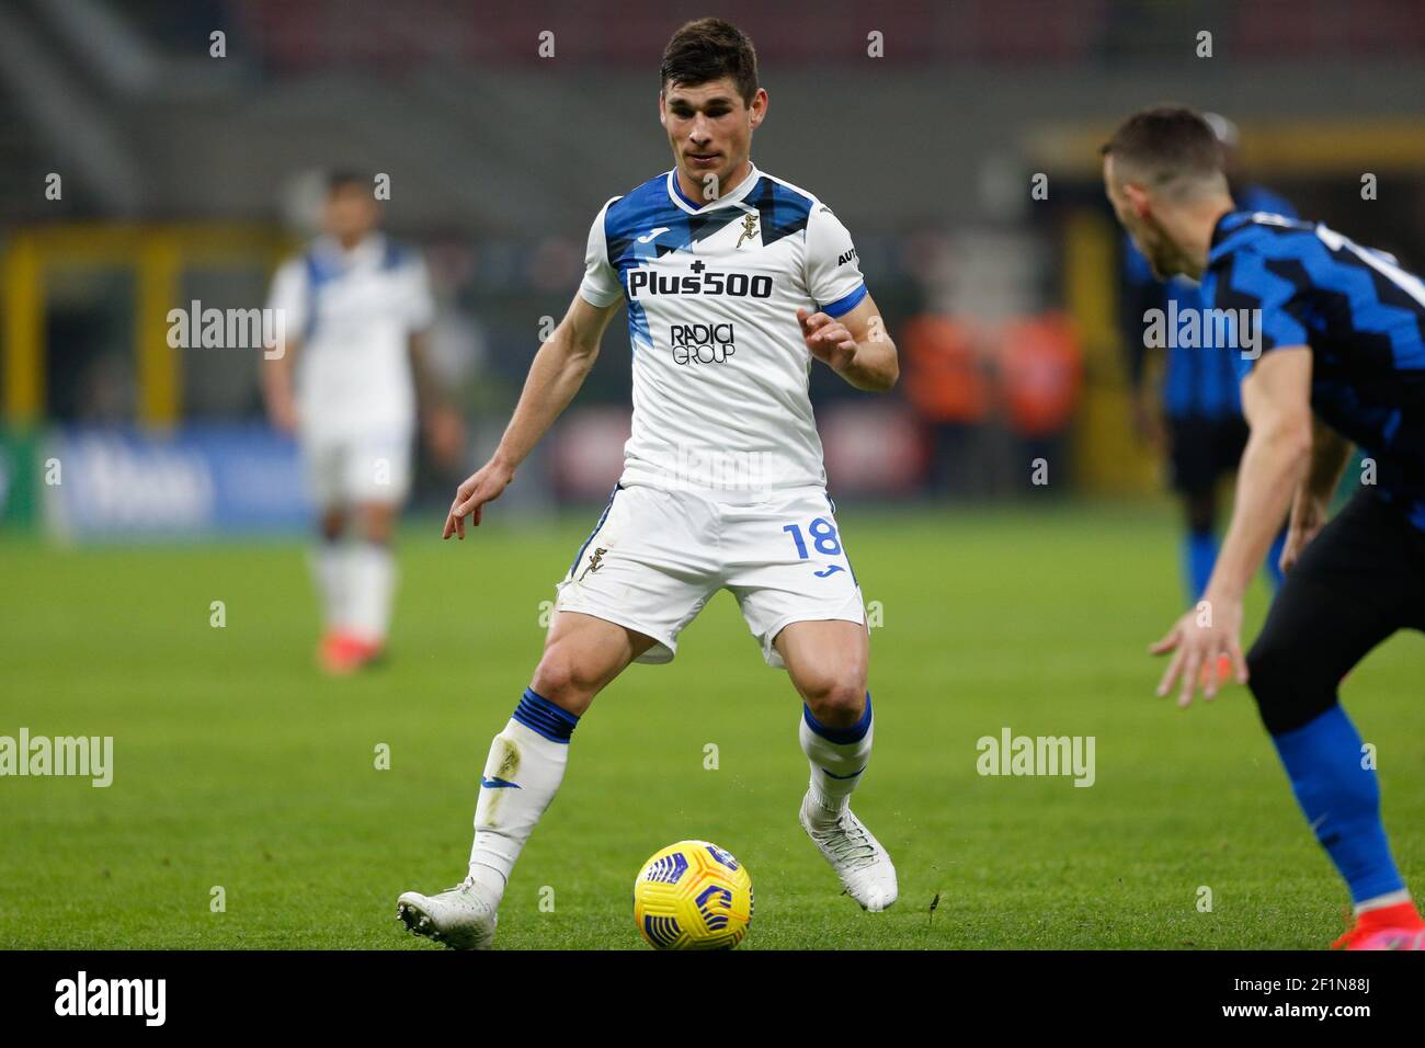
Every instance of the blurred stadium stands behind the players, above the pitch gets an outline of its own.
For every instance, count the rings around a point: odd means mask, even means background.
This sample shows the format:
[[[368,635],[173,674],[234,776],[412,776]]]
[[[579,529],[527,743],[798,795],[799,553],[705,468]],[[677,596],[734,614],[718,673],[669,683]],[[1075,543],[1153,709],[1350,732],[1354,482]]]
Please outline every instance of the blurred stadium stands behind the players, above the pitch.
[[[192,426],[261,428],[254,356],[171,349],[162,317],[194,298],[261,305],[276,258],[305,235],[314,174],[331,167],[390,175],[386,225],[430,260],[440,359],[475,422],[473,462],[507,418],[542,319],[561,315],[577,284],[591,215],[668,165],[657,58],[703,7],[601,10],[0,9],[6,516],[43,515],[33,490],[16,509],[16,478],[56,433],[178,441]],[[976,468],[940,486],[933,425],[905,386],[872,404],[815,371],[839,493],[1007,496],[1026,452],[1046,448],[1069,456],[1060,476],[1077,492],[1154,489],[1156,459],[1133,446],[1127,422],[1119,241],[1096,153],[1139,106],[1173,98],[1231,115],[1253,178],[1305,215],[1425,261],[1418,4],[740,0],[718,13],[760,50],[771,93],[760,167],[836,210],[892,332],[912,318],[953,321],[990,391],[968,426]],[[1211,58],[1194,54],[1204,29]],[[215,31],[221,58],[209,54]],[[868,57],[872,31],[882,58]],[[50,173],[63,174],[60,200],[46,197]],[[1030,198],[1036,173],[1047,200]],[[1361,197],[1365,173],[1379,180],[1375,200]],[[1006,376],[1025,372],[1006,361],[1029,319],[1067,332],[1069,348],[1029,372],[1030,385],[1057,384],[1069,408],[1054,432],[1020,432],[1007,406]],[[1056,369],[1064,352],[1073,366]],[[1056,404],[1042,415],[1056,418]],[[607,490],[626,428],[617,324],[512,505],[533,512]],[[442,502],[450,481],[428,471],[423,499]]]

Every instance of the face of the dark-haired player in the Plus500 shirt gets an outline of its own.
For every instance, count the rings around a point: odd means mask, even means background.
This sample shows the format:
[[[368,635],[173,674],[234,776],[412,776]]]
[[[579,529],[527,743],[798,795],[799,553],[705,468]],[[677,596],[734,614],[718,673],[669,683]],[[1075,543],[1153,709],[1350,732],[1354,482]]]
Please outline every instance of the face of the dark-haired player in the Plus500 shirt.
[[[731,77],[705,84],[664,84],[658,117],[673,158],[687,181],[711,190],[725,184],[752,150],[752,131],[767,114],[767,91],[742,101]],[[715,177],[710,178],[708,175]]]

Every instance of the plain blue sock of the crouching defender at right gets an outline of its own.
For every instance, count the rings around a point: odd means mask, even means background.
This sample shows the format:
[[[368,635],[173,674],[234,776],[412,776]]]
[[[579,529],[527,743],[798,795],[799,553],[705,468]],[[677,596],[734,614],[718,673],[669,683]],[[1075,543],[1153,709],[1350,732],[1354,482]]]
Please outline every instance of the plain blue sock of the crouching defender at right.
[[[1405,887],[1381,823],[1375,769],[1362,769],[1361,736],[1340,704],[1273,737],[1317,841],[1361,903]]]

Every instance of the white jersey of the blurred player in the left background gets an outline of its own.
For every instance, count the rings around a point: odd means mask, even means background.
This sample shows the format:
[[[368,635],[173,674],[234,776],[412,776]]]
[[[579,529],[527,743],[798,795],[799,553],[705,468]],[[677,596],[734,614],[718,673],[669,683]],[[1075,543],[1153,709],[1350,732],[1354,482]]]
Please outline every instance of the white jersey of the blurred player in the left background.
[[[420,257],[373,232],[351,251],[331,238],[282,264],[268,307],[298,341],[302,431],[328,439],[415,426],[409,337],[435,302]]]

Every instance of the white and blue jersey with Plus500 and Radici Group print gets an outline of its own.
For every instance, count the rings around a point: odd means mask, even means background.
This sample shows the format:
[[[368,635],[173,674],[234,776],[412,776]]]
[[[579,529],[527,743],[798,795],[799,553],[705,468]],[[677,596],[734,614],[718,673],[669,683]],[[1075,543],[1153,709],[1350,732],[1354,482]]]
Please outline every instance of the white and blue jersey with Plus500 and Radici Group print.
[[[866,295],[851,235],[825,204],[754,165],[700,207],[668,171],[604,204],[584,261],[580,295],[628,307],[624,485],[825,485],[797,308],[841,317]]]

